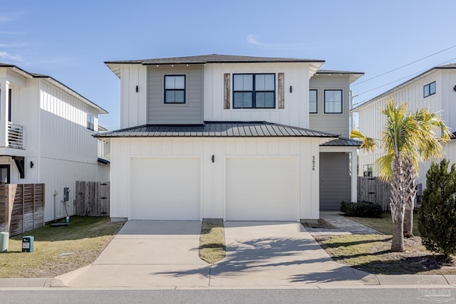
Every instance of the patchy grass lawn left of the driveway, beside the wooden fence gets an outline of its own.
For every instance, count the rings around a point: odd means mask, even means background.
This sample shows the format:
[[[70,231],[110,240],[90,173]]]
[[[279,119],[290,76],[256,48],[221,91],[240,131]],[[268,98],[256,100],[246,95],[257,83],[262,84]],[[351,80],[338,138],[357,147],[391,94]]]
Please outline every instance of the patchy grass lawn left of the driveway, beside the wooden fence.
[[[71,216],[68,226],[49,224],[13,236],[0,253],[0,278],[53,278],[93,263],[124,222],[108,217]],[[23,253],[22,236],[34,237],[33,253]]]

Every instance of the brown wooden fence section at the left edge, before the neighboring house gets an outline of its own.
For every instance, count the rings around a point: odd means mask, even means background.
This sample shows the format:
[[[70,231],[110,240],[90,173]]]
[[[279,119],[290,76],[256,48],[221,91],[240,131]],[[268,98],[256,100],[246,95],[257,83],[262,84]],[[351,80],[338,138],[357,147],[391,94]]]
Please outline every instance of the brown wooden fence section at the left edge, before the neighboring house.
[[[45,184],[0,184],[0,231],[10,236],[44,226]]]

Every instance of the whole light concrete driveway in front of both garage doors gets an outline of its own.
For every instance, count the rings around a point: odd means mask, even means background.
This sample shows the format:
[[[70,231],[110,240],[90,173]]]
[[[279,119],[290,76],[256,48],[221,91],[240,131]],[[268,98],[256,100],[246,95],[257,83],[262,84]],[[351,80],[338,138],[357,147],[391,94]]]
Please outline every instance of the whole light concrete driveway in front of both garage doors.
[[[227,256],[198,257],[199,221],[128,221],[90,266],[58,276],[73,287],[254,287],[378,284],[334,262],[299,223],[225,222]]]

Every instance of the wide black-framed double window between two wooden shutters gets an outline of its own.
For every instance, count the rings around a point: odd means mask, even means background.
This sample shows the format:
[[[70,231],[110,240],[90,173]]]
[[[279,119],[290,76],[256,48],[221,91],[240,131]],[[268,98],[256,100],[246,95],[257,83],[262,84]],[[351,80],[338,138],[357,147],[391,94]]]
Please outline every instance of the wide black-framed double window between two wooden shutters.
[[[233,74],[233,108],[276,108],[276,74]]]

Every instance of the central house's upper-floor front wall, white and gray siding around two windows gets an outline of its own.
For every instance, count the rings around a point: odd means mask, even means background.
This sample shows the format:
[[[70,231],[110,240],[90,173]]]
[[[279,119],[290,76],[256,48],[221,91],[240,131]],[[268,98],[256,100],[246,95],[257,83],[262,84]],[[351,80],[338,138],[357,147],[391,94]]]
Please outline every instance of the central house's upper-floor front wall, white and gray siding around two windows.
[[[296,127],[309,127],[309,78],[311,63],[207,63],[206,65],[122,65],[120,127],[161,123],[200,123],[202,121],[267,121]],[[275,109],[224,109],[224,73],[274,73]],[[278,74],[284,73],[284,109],[279,109]],[[163,103],[163,76],[186,75],[186,105]],[[160,79],[159,79],[160,78]],[[232,78],[230,78],[232,93]],[[153,80],[153,81],[152,81]],[[138,92],[136,86],[138,85]],[[147,86],[147,90],[145,89]],[[289,92],[290,86],[293,92]],[[199,89],[198,89],[199,88]],[[199,90],[199,91],[198,91]],[[201,104],[203,102],[204,104]],[[173,108],[192,108],[190,120]],[[198,117],[199,113],[204,113]],[[198,112],[201,111],[201,112]],[[161,119],[165,115],[167,120]],[[178,120],[178,121],[177,121]],[[199,122],[197,122],[199,120]]]

